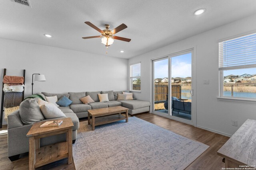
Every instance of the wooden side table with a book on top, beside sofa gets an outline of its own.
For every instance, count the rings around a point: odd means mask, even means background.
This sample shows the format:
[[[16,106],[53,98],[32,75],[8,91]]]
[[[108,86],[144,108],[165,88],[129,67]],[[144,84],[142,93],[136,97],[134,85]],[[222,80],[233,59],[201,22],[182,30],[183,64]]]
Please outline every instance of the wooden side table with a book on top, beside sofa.
[[[68,158],[68,164],[73,162],[72,159],[72,119],[62,118],[60,126],[40,127],[44,122],[36,122],[27,133],[29,137],[29,170],[34,170],[39,166],[51,162]],[[66,133],[66,141],[40,147],[40,138],[52,135]]]

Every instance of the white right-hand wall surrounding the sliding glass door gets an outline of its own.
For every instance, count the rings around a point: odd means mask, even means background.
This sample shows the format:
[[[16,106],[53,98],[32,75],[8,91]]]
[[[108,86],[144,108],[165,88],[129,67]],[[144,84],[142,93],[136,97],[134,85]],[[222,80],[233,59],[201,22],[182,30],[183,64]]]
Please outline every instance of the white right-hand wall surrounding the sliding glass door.
[[[195,47],[197,126],[226,135],[234,134],[246,119],[256,119],[256,104],[217,100],[218,42],[236,35],[256,32],[255,21],[256,15],[250,16],[129,59],[129,64],[141,62],[141,93],[136,93],[136,98],[150,101],[151,59]],[[210,79],[210,84],[203,84],[204,79]],[[232,119],[238,121],[238,127],[232,126]]]

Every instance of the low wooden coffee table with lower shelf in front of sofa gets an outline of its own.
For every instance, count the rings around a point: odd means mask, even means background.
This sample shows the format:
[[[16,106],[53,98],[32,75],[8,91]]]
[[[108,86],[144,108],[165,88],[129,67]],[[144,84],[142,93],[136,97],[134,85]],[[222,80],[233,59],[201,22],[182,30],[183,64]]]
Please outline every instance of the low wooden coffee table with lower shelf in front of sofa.
[[[121,115],[121,113],[123,112],[126,113],[126,116]],[[124,119],[126,119],[126,122],[128,122],[128,108],[126,107],[116,106],[88,110],[88,125],[92,125],[93,131],[95,129],[95,126],[120,121]]]

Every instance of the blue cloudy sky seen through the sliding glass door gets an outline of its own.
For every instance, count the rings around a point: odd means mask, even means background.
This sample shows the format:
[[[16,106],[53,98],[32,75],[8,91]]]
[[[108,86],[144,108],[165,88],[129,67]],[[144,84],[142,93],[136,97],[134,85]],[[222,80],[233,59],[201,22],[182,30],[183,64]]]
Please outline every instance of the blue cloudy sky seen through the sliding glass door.
[[[191,77],[191,53],[171,58],[171,77]],[[168,59],[154,62],[154,78],[168,78]]]

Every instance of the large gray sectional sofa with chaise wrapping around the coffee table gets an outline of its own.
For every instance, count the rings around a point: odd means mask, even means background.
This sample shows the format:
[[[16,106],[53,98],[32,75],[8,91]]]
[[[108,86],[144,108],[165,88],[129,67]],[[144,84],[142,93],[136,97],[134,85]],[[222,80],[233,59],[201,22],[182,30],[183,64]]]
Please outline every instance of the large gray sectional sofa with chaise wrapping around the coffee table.
[[[109,102],[100,102],[98,94],[108,93]],[[141,100],[117,100],[118,93],[122,94],[122,91],[98,91],[98,92],[69,92],[64,94],[52,94],[47,92],[42,92],[40,95],[45,98],[45,96],[57,96],[58,100],[63,96],[66,96],[72,100],[72,104],[67,107],[58,107],[66,115],[70,117],[74,124],[72,139],[73,143],[77,137],[77,129],[79,129],[79,119],[83,117],[88,117],[89,109],[98,109],[105,107],[114,106],[124,106],[129,109],[129,114],[134,115],[136,113],[142,113],[149,111],[150,102]],[[80,98],[88,96],[95,101],[90,104],[83,104]],[[38,106],[39,107],[39,106]],[[48,121],[51,119],[44,119],[42,121]],[[29,150],[29,140],[26,137],[29,129],[33,124],[22,123],[19,110],[8,115],[8,157],[11,161],[17,160],[21,153],[28,152]],[[40,139],[40,146],[50,145],[52,143],[57,143],[66,140],[66,134],[54,135],[50,137],[45,137]]]

